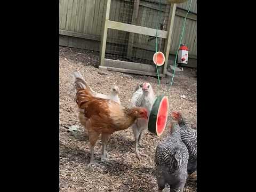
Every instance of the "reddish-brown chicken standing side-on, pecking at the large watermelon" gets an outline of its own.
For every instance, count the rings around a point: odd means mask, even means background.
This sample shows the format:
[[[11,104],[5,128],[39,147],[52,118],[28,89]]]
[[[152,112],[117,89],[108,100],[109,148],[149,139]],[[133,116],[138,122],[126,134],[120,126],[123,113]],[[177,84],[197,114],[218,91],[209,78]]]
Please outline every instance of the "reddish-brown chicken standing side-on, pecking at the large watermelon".
[[[106,162],[106,145],[115,131],[129,128],[136,119],[148,119],[145,108],[133,107],[126,108],[110,99],[95,98],[89,90],[84,89],[84,85],[77,79],[74,82],[76,89],[76,102],[80,109],[79,121],[89,133],[91,145],[91,164],[98,164],[94,160],[94,146],[101,134],[102,156],[101,162]]]

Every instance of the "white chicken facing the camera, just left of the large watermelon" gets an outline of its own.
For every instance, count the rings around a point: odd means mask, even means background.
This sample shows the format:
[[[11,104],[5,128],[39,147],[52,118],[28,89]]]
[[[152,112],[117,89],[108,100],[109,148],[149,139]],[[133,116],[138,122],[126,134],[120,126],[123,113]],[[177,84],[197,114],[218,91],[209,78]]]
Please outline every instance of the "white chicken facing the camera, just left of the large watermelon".
[[[148,114],[153,107],[155,101],[155,94],[150,83],[141,83],[136,87],[135,92],[132,95],[131,107],[145,107]],[[138,119],[132,125],[132,130],[135,139],[135,154],[140,161],[140,153],[138,151],[138,145],[143,148],[140,144],[141,134],[143,130],[148,127],[148,119]],[[143,156],[143,155],[142,155]]]

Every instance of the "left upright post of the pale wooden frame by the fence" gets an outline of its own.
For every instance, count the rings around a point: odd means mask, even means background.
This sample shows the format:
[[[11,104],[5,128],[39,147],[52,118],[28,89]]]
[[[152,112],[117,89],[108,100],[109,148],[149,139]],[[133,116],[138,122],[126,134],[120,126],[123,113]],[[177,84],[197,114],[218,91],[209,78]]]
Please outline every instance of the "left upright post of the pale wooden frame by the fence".
[[[105,17],[103,18],[103,26],[102,26],[102,34],[101,34],[101,42],[100,42],[100,65],[101,66],[104,66],[107,35],[108,35],[107,21],[109,20],[110,4],[111,4],[111,0],[107,0],[107,6],[103,14],[105,15]]]

